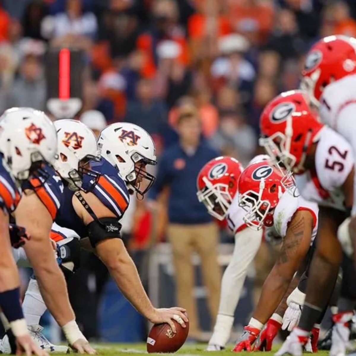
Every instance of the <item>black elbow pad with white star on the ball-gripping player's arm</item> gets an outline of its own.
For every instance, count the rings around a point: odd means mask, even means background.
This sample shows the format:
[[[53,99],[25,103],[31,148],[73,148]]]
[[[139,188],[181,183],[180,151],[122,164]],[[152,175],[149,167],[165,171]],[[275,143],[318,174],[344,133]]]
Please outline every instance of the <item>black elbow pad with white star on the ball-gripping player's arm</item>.
[[[117,218],[101,218],[87,225],[89,241],[93,248],[107,239],[121,239],[121,224]]]

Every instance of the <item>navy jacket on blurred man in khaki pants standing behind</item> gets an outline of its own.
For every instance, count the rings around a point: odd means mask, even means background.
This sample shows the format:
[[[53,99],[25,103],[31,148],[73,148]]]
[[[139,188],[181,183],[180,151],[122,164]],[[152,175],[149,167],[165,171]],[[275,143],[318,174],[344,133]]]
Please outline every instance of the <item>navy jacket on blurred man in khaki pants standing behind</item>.
[[[179,143],[167,148],[158,162],[157,178],[148,198],[156,199],[164,186],[170,188],[168,218],[170,223],[203,224],[212,218],[197,198],[197,176],[205,163],[218,156],[201,142],[193,156],[188,156]]]

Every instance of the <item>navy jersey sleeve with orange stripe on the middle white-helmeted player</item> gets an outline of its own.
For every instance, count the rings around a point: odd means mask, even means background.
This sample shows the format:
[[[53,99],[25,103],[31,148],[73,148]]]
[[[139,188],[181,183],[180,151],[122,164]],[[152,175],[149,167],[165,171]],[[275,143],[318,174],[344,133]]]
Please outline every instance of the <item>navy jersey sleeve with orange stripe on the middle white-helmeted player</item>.
[[[56,218],[63,202],[63,183],[61,177],[47,163],[38,170],[36,177],[22,184],[22,189],[31,189],[46,206],[52,219]]]

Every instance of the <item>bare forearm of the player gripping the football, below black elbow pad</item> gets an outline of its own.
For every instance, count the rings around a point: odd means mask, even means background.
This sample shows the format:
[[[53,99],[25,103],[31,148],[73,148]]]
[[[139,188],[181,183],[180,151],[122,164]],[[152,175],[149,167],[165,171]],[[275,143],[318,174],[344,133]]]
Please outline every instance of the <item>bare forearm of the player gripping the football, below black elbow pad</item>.
[[[121,244],[122,246],[120,246]],[[122,241],[119,239],[106,240],[96,249],[122,294],[139,313],[150,319],[154,308],[142,286],[137,268]]]

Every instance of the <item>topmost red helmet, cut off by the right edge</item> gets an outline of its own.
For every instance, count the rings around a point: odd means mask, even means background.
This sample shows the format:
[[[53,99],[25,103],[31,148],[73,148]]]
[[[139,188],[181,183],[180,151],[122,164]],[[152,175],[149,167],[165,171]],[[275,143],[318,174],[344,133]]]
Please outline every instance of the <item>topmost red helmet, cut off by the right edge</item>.
[[[324,88],[335,80],[356,73],[356,38],[324,37],[310,49],[302,70],[300,88],[318,106]]]

